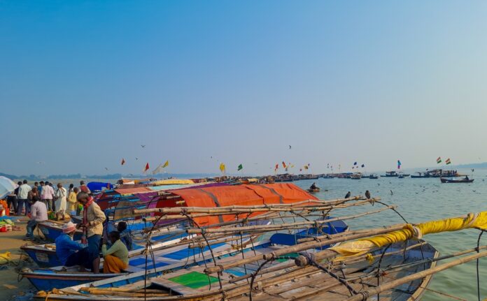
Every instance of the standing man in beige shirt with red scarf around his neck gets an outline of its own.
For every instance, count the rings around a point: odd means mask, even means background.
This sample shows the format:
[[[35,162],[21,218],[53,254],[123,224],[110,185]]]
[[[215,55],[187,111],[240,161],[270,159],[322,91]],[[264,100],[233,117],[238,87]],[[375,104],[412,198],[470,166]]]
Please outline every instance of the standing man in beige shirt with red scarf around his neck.
[[[77,227],[85,228],[88,248],[93,254],[95,252],[98,254],[101,235],[103,234],[103,223],[106,220],[106,216],[88,193],[82,191],[78,193],[76,199],[83,205],[83,222],[78,223]],[[99,272],[99,262],[99,256],[93,259],[93,272]]]

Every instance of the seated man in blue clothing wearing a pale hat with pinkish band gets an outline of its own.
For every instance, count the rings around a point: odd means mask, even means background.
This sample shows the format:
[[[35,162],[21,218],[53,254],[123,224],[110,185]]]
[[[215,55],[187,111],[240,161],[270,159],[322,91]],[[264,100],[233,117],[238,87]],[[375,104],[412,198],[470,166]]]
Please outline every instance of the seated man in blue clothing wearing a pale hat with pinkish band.
[[[93,270],[93,258],[98,254],[92,254],[93,252],[85,244],[73,241],[75,232],[76,224],[71,221],[62,226],[62,234],[56,238],[57,258],[66,267],[80,265],[80,270]]]

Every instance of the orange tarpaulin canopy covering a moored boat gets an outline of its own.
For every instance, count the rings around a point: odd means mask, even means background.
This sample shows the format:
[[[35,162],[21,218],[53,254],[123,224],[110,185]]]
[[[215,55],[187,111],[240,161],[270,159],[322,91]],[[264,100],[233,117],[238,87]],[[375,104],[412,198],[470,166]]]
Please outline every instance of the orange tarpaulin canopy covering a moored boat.
[[[239,186],[213,186],[205,188],[178,189],[167,192],[180,196],[185,200],[186,207],[225,207],[231,205],[250,206],[265,204],[290,204],[302,200],[318,200],[295,184],[262,184]],[[175,199],[159,200],[157,207],[178,207]],[[255,212],[250,216],[261,214]],[[245,218],[248,214],[240,214]],[[199,226],[209,226],[223,221],[232,221],[235,214],[225,216],[198,217],[195,221]]]

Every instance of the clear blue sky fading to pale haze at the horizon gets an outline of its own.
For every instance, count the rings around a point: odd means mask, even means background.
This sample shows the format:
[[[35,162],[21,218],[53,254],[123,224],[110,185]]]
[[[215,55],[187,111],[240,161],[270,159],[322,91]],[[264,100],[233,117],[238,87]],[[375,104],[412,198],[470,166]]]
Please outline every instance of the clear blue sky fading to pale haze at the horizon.
[[[0,0],[0,172],[487,161],[486,15],[486,1]]]

